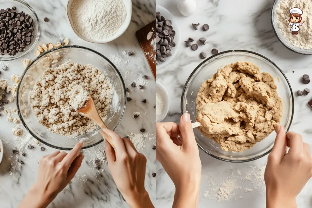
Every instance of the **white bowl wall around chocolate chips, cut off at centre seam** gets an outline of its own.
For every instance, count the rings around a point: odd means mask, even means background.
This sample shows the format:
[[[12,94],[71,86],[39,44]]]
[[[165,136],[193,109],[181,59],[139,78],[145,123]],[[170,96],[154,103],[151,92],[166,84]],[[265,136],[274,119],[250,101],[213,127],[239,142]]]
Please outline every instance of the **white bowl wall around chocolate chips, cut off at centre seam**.
[[[156,65],[156,70],[158,70],[164,67],[165,65],[169,64],[177,55],[180,42],[181,42],[181,33],[180,33],[179,25],[175,21],[175,17],[173,16],[171,12],[169,12],[167,9],[158,5],[156,5],[156,12],[160,12],[161,16],[165,17],[166,20],[171,20],[173,30],[176,31],[176,35],[174,36],[174,40],[173,40],[176,43],[176,46],[172,47],[171,49],[172,56],[166,57],[165,62],[158,61],[159,64]]]

